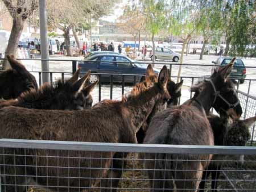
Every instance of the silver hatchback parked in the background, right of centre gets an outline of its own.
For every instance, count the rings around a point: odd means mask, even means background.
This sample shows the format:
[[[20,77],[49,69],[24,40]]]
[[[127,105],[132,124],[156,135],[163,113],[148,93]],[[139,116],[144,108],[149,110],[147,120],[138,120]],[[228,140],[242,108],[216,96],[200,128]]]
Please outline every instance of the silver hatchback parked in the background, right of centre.
[[[153,52],[150,52],[150,58],[153,60]],[[155,59],[164,59],[164,60],[172,60],[179,61],[180,54],[172,51],[172,49],[167,47],[156,47],[155,48]]]

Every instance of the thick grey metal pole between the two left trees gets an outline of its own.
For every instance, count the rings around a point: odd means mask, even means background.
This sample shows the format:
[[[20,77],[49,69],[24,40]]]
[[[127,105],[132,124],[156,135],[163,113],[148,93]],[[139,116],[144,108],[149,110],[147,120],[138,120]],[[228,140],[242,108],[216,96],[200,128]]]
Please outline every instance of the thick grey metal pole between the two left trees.
[[[47,14],[46,14],[46,0],[39,1],[39,21],[40,21],[40,51],[42,71],[49,72],[49,48],[47,38]],[[47,60],[47,61],[46,61]],[[49,82],[49,73],[43,73],[43,83]]]

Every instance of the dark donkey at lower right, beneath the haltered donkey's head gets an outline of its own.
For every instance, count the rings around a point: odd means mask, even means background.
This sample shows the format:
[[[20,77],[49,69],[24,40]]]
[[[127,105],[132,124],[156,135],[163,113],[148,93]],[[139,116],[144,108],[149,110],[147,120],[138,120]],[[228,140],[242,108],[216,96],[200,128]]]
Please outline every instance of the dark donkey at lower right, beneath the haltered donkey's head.
[[[250,138],[249,127],[256,121],[256,116],[245,120],[233,119],[229,114],[221,114],[221,117],[217,115],[208,115],[210,126],[213,130],[214,144],[215,145],[228,145],[228,146],[245,146],[246,141]],[[212,175],[212,191],[217,191],[217,181],[220,176],[220,169],[222,166],[221,160],[232,158],[238,159],[238,162],[243,162],[242,156],[225,156],[225,155],[213,155],[208,170],[204,171],[199,188],[200,192],[204,191],[205,180]]]

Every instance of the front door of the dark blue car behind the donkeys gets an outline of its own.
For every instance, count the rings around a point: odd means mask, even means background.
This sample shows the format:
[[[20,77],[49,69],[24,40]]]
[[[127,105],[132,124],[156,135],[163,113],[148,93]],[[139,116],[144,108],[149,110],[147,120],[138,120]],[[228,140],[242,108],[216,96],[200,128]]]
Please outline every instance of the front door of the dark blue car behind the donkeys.
[[[116,56],[117,69],[119,74],[137,74],[135,66],[131,64],[131,61],[122,56]],[[122,76],[118,77],[118,81],[122,81]],[[134,76],[125,76],[125,82],[134,82]]]

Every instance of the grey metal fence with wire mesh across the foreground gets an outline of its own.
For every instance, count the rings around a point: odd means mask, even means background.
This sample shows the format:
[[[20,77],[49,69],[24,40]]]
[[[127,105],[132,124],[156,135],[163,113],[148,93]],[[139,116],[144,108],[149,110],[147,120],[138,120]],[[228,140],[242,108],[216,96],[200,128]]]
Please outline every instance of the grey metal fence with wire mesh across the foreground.
[[[1,192],[256,189],[256,147],[1,139],[0,149]]]

